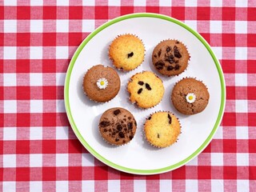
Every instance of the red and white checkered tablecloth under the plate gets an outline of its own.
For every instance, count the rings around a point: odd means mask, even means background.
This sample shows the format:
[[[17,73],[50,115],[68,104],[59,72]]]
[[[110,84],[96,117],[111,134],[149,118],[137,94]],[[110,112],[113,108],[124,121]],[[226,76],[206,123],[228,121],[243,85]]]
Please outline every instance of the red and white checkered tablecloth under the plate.
[[[96,27],[154,12],[210,43],[226,110],[210,145],[165,174],[125,174],[75,137],[63,90],[70,58]],[[256,1],[0,0],[0,191],[255,191]]]

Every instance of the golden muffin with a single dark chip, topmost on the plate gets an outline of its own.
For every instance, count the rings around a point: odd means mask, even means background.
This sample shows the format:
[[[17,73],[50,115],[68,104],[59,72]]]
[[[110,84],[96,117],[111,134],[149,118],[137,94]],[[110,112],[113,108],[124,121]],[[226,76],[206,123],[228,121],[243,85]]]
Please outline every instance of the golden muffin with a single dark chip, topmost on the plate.
[[[119,70],[134,70],[144,61],[145,47],[134,34],[119,35],[110,44],[109,58]]]

